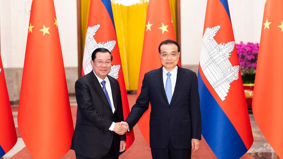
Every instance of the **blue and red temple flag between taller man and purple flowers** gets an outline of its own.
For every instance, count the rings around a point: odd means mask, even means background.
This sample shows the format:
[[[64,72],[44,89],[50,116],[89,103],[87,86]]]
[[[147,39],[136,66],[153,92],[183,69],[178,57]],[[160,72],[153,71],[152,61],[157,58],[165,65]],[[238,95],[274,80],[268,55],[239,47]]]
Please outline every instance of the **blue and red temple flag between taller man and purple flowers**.
[[[219,159],[253,143],[227,0],[208,0],[199,62],[202,135]]]

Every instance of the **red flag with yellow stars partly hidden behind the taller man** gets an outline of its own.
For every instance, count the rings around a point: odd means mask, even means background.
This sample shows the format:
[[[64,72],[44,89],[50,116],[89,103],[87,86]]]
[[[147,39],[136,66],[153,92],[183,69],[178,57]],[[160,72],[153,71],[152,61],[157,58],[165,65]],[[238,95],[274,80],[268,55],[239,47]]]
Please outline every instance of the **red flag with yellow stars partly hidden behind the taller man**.
[[[159,44],[164,40],[175,40],[174,27],[172,23],[170,5],[168,0],[149,1],[146,26],[144,30],[144,44],[142,48],[142,60],[139,71],[139,84],[137,88],[137,97],[141,92],[142,80],[144,74],[153,69],[158,69],[162,66],[160,55],[158,52]],[[178,62],[180,66],[180,61]],[[139,120],[138,125],[149,145],[149,116],[150,106]]]

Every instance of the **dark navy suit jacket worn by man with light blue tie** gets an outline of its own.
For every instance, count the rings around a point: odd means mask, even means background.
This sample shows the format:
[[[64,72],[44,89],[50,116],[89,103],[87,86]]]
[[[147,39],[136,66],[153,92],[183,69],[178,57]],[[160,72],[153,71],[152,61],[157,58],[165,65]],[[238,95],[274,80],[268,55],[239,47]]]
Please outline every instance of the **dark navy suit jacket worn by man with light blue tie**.
[[[145,73],[141,93],[126,119],[130,130],[151,104],[150,147],[166,148],[171,139],[175,149],[191,148],[191,139],[201,139],[201,111],[196,73],[178,66],[176,85],[168,103],[162,67]]]

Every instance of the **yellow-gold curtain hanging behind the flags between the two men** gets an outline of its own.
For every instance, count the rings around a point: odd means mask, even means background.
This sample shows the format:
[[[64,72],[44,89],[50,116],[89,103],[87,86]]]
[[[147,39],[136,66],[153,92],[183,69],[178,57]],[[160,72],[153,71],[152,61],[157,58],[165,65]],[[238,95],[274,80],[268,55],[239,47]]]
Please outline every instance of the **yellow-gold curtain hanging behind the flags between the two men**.
[[[177,38],[177,0],[169,0],[174,31]],[[90,0],[80,0],[82,58]],[[124,6],[112,4],[117,40],[127,90],[137,90],[142,57],[148,2]],[[158,48],[156,48],[158,49]],[[115,57],[114,57],[115,58]]]

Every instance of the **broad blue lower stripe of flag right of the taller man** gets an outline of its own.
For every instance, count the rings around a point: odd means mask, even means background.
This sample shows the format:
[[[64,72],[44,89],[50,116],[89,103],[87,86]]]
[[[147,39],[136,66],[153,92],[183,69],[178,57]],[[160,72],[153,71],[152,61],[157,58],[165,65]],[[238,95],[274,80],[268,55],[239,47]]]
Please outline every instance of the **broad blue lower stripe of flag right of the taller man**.
[[[247,152],[245,144],[205,86],[200,73],[198,73],[198,82],[201,101],[201,129],[205,141],[218,159],[240,158]]]

